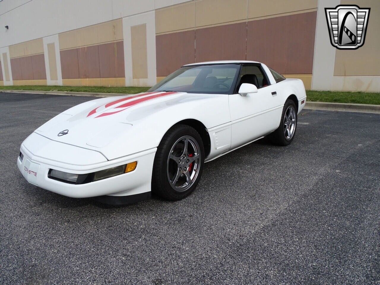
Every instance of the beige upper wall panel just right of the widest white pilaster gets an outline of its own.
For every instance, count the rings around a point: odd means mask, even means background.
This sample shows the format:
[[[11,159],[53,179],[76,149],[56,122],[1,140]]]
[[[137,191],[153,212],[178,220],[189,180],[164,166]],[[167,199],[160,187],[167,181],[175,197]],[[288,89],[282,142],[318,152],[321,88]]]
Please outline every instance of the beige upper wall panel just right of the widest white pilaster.
[[[156,34],[195,28],[195,2],[155,11]]]

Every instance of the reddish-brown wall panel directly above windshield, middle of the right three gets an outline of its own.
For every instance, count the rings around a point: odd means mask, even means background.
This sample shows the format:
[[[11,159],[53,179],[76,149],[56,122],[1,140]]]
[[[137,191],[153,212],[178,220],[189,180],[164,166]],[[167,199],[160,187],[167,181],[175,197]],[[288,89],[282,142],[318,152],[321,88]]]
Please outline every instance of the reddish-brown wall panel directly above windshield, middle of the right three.
[[[196,62],[245,60],[246,35],[245,22],[195,30]]]

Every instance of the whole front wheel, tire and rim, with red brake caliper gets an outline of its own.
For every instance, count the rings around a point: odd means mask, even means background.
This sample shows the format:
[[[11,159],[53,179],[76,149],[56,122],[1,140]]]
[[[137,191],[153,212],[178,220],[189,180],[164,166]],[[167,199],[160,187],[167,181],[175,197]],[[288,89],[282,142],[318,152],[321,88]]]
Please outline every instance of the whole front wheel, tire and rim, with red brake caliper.
[[[204,147],[188,125],[172,127],[162,138],[154,159],[152,191],[175,201],[190,195],[201,178]]]

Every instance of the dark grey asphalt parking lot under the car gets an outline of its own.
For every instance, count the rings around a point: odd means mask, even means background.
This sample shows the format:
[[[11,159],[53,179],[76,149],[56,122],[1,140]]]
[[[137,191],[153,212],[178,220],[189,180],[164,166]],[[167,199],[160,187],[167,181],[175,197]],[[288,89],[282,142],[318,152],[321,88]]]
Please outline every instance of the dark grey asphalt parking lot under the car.
[[[0,93],[0,284],[379,284],[380,115],[305,110],[288,147],[123,207],[28,184],[21,142],[91,97]]]

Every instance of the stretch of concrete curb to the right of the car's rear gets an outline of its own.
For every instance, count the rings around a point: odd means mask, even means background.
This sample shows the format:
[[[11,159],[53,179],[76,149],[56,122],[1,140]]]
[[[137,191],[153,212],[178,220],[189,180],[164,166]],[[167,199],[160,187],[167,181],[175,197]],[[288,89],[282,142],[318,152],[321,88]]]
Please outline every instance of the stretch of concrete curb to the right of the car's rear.
[[[304,109],[380,114],[380,105],[306,101]]]

